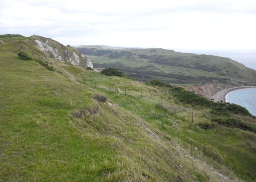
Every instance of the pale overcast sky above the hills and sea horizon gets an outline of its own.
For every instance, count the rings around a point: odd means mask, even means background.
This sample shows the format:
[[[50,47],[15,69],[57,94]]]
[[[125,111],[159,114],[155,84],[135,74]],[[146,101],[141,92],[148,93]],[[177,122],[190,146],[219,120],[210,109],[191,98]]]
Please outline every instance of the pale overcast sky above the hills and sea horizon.
[[[65,45],[256,49],[256,0],[1,0],[0,34]]]

